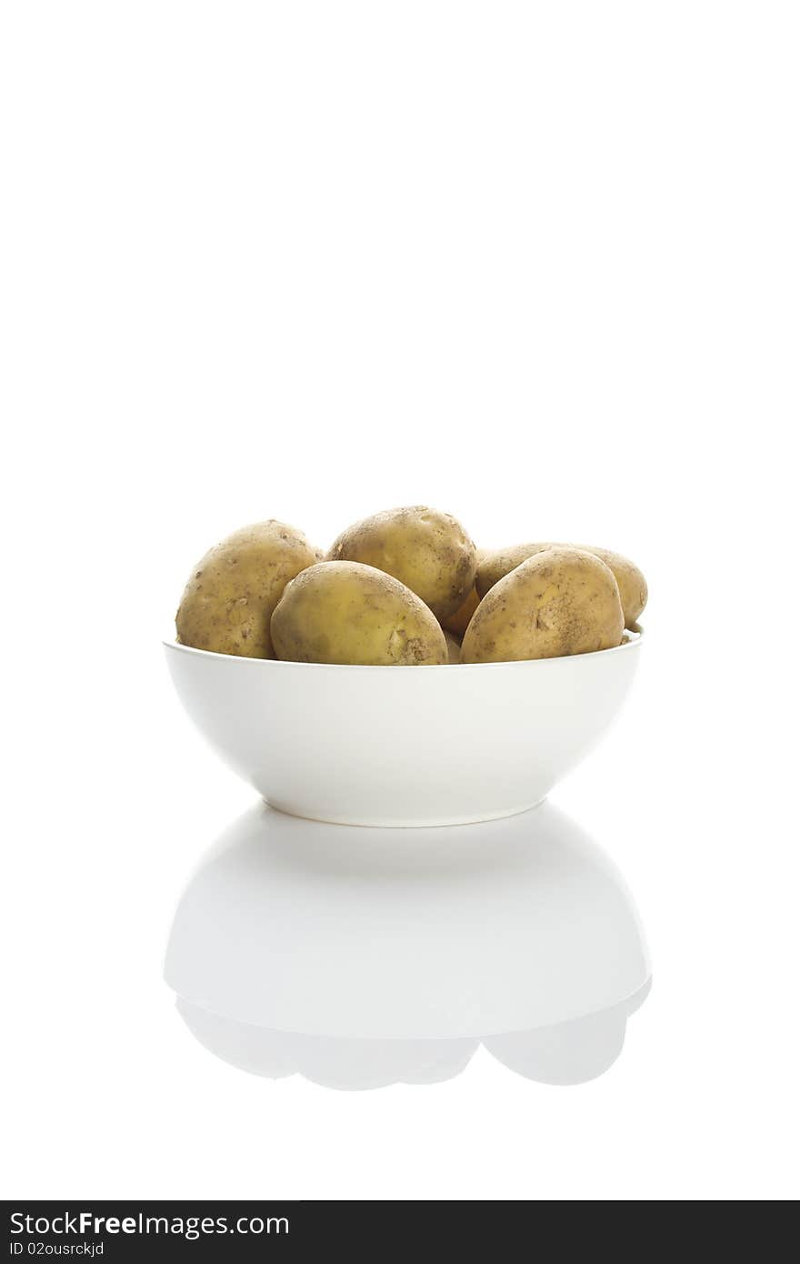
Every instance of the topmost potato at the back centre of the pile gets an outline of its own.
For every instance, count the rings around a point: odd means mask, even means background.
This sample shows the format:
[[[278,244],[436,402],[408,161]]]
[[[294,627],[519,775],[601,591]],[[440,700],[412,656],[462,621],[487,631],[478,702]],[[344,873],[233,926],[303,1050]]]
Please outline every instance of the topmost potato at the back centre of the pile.
[[[475,581],[475,545],[449,513],[412,506],[387,509],[348,527],[329,561],[358,561],[393,575],[437,619],[454,614]]]

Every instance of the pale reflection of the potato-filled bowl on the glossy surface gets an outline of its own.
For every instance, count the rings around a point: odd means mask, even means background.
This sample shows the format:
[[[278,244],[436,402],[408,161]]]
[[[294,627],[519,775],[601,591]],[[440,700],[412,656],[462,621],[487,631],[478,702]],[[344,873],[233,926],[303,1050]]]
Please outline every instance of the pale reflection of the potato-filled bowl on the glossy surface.
[[[618,871],[552,804],[401,834],[259,805],[185,891],[166,977],[226,1062],[365,1088],[447,1079],[480,1043],[528,1078],[589,1079],[650,966]]]

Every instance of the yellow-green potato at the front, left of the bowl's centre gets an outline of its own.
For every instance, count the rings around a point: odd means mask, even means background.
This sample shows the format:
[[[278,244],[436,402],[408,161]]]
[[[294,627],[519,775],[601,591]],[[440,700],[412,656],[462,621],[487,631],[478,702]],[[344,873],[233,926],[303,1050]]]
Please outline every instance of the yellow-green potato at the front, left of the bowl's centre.
[[[286,585],[272,616],[279,659],[425,666],[447,662],[427,605],[392,575],[356,561],[322,561]]]

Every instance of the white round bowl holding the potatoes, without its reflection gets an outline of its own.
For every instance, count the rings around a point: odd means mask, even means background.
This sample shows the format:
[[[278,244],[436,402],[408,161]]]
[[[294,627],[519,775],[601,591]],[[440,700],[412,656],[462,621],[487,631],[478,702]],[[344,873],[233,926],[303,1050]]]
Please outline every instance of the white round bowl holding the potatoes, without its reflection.
[[[346,667],[164,642],[197,728],[273,806],[354,825],[449,825],[540,803],[619,710],[641,636],[535,662]]]

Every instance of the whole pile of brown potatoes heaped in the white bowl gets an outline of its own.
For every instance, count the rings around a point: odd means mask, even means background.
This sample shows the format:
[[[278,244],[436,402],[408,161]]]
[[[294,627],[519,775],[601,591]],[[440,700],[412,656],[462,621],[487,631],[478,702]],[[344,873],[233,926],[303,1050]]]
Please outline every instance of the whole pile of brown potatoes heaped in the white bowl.
[[[610,650],[647,602],[607,549],[476,551],[449,513],[413,506],[348,527],[322,557],[302,531],[257,522],[197,564],[182,645],[252,659],[372,666],[512,662]]]

